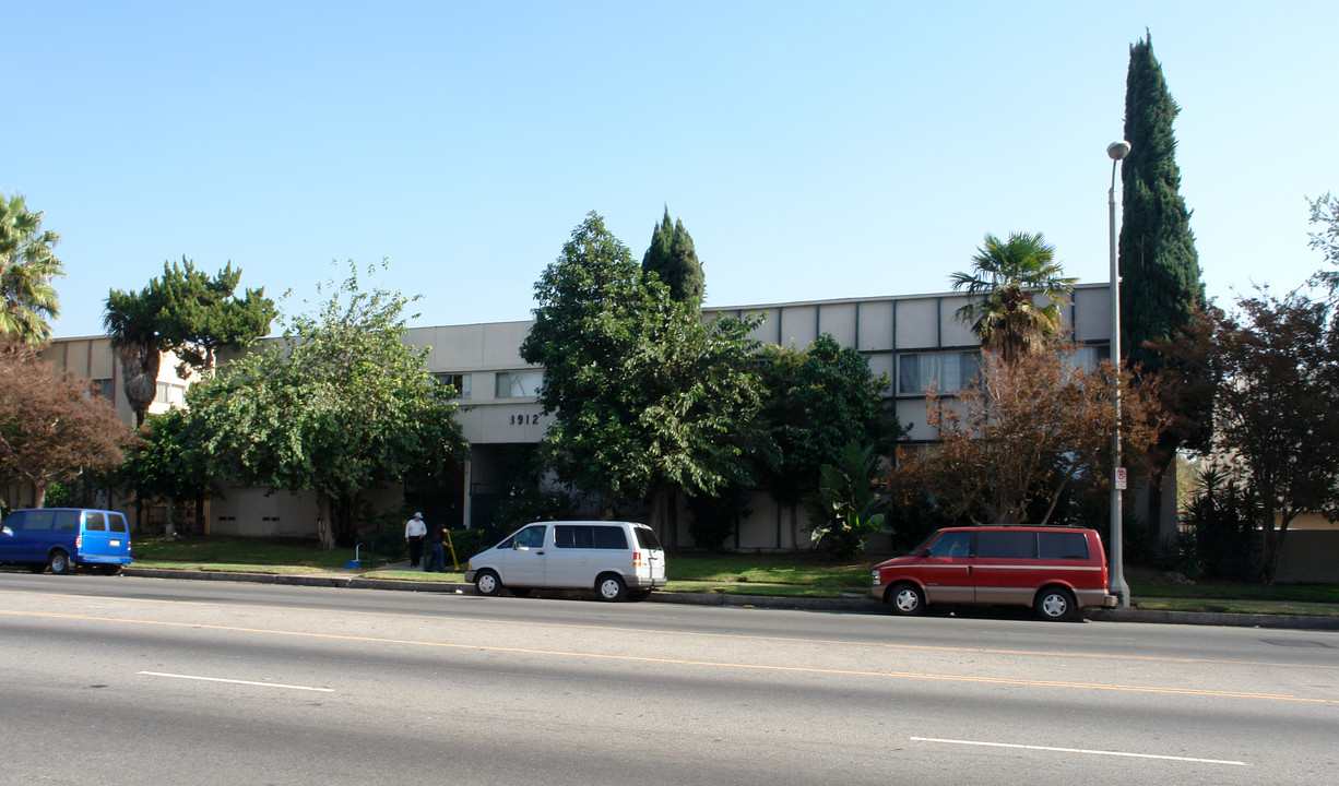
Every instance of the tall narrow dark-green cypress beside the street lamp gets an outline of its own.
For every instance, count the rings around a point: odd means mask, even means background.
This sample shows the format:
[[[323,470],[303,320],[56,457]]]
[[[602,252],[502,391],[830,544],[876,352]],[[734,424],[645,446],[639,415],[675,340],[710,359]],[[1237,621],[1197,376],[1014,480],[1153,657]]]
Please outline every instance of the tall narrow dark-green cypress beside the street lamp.
[[[1206,305],[1172,135],[1172,122],[1180,111],[1162,78],[1162,66],[1153,56],[1152,36],[1133,44],[1125,94],[1125,138],[1130,142],[1130,155],[1121,166],[1121,347],[1123,360],[1138,364],[1141,375],[1168,372],[1174,376],[1177,384],[1162,386],[1166,394],[1185,390],[1186,379],[1212,380],[1206,360],[1186,367],[1170,362],[1166,352],[1168,341],[1185,341],[1196,335],[1192,325]],[[1192,386],[1202,391],[1212,387]],[[1213,416],[1209,395],[1162,399],[1162,408],[1182,427],[1165,430],[1152,449],[1150,493],[1144,512],[1152,545],[1161,538],[1160,490],[1176,451],[1206,447]]]

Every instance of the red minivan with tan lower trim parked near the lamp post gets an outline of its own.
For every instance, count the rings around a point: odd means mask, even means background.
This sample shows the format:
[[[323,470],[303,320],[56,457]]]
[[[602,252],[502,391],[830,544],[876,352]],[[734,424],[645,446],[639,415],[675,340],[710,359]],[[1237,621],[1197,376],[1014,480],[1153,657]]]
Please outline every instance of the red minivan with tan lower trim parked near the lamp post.
[[[1115,608],[1106,552],[1091,529],[955,526],[905,556],[874,566],[870,595],[893,613],[929,604],[1030,605],[1044,620],[1073,620],[1086,607]]]

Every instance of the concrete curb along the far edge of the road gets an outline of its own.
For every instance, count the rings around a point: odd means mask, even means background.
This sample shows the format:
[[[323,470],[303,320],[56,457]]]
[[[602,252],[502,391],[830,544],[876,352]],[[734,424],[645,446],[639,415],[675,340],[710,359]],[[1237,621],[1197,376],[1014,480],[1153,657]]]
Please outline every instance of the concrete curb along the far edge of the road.
[[[236,573],[224,570],[169,570],[162,568],[134,568],[122,570],[125,576],[141,578],[173,578],[189,581],[245,581],[252,584],[284,584],[289,586],[345,586],[351,589],[383,589],[396,592],[437,592],[443,595],[473,595],[474,586],[455,581],[415,581],[412,578],[371,578],[366,574],[340,576],[335,573],[276,574]],[[686,605],[716,605],[735,608],[773,608],[813,612],[842,612],[886,615],[888,607],[854,597],[775,597],[765,595],[718,595],[706,592],[655,592],[648,599],[655,603]],[[1291,628],[1299,631],[1339,631],[1339,617],[1312,617],[1302,615],[1233,615],[1217,612],[1164,612],[1145,609],[1089,609],[1085,615],[1102,623],[1148,623],[1166,625],[1224,625],[1241,628]]]

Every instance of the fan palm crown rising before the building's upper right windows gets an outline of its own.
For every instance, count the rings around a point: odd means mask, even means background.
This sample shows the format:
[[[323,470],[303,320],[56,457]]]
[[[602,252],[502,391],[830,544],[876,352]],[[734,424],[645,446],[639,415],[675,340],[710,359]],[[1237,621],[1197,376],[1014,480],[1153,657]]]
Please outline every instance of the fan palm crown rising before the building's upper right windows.
[[[1042,233],[1010,233],[1007,242],[994,234],[972,257],[972,273],[953,273],[953,291],[965,291],[968,303],[956,312],[972,325],[981,347],[995,349],[1006,363],[1043,347],[1060,332],[1060,305],[1077,279],[1062,276],[1055,248]],[[1047,305],[1032,297],[1044,295]]]

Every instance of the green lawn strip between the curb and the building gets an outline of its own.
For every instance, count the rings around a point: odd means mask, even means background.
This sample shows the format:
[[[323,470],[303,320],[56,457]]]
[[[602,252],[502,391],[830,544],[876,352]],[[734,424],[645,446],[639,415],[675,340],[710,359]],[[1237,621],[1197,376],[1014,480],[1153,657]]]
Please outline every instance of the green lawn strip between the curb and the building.
[[[141,568],[191,568],[252,573],[320,573],[344,568],[352,549],[321,552],[311,540],[240,538],[204,536],[167,541],[141,536],[134,541],[135,565]],[[367,554],[363,554],[364,557]],[[469,554],[458,554],[461,569]],[[450,558],[450,553],[447,553]],[[785,597],[864,597],[869,572],[881,557],[858,562],[833,562],[817,554],[674,554],[667,564],[671,592],[770,595]],[[378,569],[367,560],[356,573],[382,578],[462,581],[461,572]],[[1153,570],[1126,572],[1134,605],[1144,609],[1214,611],[1233,613],[1285,613],[1339,616],[1339,585],[1302,584],[1261,586],[1233,581],[1176,584]]]

